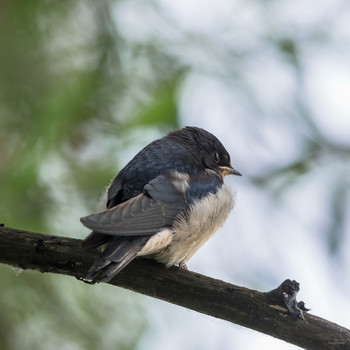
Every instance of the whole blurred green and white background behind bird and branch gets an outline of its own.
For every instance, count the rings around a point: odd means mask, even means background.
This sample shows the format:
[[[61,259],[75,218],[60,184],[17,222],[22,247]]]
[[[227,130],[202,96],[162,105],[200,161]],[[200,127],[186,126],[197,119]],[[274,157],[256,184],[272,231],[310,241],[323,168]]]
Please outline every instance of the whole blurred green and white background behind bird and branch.
[[[350,3],[3,0],[0,222],[83,238],[115,173],[185,125],[214,133],[237,205],[188,263],[300,282],[350,327]],[[0,348],[296,349],[108,285],[0,265]]]

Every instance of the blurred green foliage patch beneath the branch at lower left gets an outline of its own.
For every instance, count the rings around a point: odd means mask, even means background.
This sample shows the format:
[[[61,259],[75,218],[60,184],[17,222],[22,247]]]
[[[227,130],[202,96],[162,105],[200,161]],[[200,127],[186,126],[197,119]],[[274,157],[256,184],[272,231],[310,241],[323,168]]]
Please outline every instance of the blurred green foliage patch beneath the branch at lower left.
[[[145,327],[127,291],[13,268],[1,276],[1,349],[134,349]]]

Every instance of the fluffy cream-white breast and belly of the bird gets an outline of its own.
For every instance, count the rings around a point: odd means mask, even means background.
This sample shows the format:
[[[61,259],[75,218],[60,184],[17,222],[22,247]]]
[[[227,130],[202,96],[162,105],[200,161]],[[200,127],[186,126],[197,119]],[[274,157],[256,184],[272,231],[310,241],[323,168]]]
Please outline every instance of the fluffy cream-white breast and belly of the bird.
[[[189,215],[173,225],[171,243],[153,257],[167,267],[185,263],[222,226],[233,205],[232,192],[224,184],[215,194],[192,206]],[[164,232],[167,239],[169,234],[169,230]],[[160,236],[165,238],[163,234]]]

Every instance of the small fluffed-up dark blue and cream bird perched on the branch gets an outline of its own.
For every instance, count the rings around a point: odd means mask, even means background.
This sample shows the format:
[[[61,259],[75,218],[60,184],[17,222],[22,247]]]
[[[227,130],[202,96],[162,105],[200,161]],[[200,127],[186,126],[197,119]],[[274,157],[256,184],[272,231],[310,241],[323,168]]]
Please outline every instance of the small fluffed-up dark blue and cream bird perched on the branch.
[[[101,248],[86,279],[109,282],[137,257],[187,269],[235,204],[227,175],[242,174],[202,128],[187,126],[148,144],[113,179],[106,209],[80,219],[92,230],[82,248]]]

